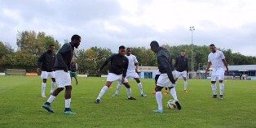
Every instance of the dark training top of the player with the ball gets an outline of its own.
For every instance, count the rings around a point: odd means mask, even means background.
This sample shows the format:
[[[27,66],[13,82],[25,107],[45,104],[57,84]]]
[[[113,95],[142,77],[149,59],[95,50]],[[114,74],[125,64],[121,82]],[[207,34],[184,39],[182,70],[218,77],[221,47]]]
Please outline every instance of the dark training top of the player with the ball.
[[[158,69],[161,74],[167,73],[168,78],[171,83],[175,83],[174,76],[172,71],[174,70],[174,66],[172,64],[172,58],[170,57],[170,52],[166,48],[159,48],[160,50],[157,52],[157,64]]]

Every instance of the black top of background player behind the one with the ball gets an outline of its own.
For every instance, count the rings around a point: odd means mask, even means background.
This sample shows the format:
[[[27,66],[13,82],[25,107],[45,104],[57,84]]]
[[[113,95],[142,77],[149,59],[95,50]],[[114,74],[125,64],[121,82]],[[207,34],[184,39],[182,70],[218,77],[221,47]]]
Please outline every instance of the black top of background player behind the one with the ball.
[[[178,58],[176,58],[174,67],[179,72],[182,72],[184,70],[187,70],[188,72],[188,58],[179,56]]]

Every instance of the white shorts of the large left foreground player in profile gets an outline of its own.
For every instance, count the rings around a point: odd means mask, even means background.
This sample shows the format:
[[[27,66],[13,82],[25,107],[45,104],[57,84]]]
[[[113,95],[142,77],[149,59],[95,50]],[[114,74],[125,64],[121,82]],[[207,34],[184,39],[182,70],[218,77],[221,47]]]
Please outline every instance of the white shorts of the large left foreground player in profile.
[[[55,79],[58,87],[71,86],[71,78],[69,72],[65,72],[64,70],[56,70]]]

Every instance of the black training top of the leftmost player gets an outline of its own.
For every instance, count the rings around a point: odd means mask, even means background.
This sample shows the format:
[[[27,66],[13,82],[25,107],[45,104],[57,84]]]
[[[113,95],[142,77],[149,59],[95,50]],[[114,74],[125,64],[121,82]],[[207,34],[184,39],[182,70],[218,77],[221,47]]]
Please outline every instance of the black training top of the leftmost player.
[[[53,66],[55,64],[55,53],[51,53],[50,50],[42,53],[38,58],[38,68],[42,71],[51,72],[54,70]]]

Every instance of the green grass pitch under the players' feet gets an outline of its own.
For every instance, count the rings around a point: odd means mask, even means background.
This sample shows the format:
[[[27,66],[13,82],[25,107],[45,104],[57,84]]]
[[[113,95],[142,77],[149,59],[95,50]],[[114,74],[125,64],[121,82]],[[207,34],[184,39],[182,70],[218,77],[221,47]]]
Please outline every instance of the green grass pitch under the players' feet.
[[[130,79],[137,100],[127,100],[124,86],[113,97],[115,82],[95,105],[106,79],[78,78],[78,85],[73,79],[71,109],[77,114],[64,115],[64,92],[51,104],[55,113],[42,109],[50,95],[51,79],[46,84],[47,98],[42,98],[40,77],[1,76],[0,127],[256,127],[256,81],[227,80],[224,100],[218,100],[211,98],[209,79],[189,79],[187,94],[179,79],[176,91],[183,109],[168,109],[166,102],[172,98],[163,96],[164,113],[152,112],[157,109],[151,94],[154,80],[141,81],[148,97],[141,97],[137,83]]]

